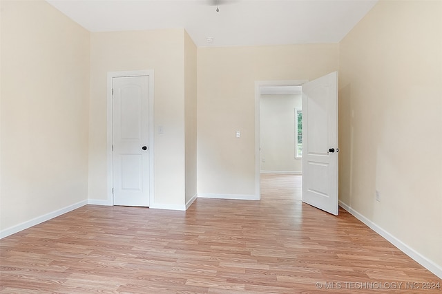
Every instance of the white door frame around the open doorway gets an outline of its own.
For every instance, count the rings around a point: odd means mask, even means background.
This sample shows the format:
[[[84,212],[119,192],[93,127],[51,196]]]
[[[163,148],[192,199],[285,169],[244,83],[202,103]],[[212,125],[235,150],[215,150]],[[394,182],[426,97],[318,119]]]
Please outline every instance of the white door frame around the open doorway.
[[[309,80],[282,80],[255,82],[255,198],[261,199],[261,93],[262,86],[300,86]]]

